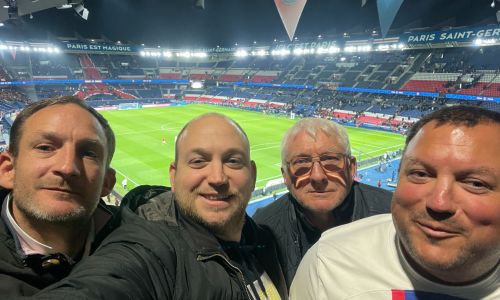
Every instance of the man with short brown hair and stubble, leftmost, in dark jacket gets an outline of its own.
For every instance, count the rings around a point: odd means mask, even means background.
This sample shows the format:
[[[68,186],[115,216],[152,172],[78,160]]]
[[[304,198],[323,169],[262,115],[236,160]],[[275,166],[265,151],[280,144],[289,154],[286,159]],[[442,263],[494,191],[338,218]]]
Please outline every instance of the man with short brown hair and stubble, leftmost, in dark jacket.
[[[115,184],[108,122],[76,97],[16,117],[0,154],[0,295],[32,295],[66,276],[107,231],[99,201]]]

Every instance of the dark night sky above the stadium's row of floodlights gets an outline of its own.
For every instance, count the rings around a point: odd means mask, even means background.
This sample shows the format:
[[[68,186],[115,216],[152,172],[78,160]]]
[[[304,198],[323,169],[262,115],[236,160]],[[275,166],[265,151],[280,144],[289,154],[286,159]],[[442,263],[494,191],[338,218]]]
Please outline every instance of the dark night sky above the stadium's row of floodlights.
[[[500,8],[492,0],[406,0],[392,26],[400,30],[422,27],[474,26],[496,22]],[[500,0],[497,0],[500,1]],[[88,21],[73,10],[49,9],[33,19],[20,18],[0,29],[0,39],[55,36],[102,38],[166,47],[229,47],[253,41],[268,45],[287,40],[272,0],[205,0],[198,9],[193,0],[85,0]],[[379,29],[376,0],[309,0],[296,36],[314,37]]]

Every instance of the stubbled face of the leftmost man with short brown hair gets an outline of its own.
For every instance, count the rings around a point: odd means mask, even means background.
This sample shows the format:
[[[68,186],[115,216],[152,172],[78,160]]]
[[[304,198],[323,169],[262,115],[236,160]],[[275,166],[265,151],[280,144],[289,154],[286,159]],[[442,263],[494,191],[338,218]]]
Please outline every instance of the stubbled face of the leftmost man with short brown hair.
[[[49,106],[30,116],[17,157],[0,155],[0,184],[13,190],[14,217],[87,220],[114,185],[106,147],[98,121],[77,105]]]

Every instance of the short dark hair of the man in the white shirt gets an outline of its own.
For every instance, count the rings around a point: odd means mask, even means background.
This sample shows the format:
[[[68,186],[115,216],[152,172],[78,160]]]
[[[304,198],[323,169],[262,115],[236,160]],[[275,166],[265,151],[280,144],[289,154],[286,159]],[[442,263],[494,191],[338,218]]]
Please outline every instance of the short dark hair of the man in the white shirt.
[[[418,120],[408,131],[405,149],[422,127],[427,123],[436,122],[435,127],[445,124],[474,127],[479,123],[496,123],[500,125],[500,112],[477,106],[456,105],[436,110]]]

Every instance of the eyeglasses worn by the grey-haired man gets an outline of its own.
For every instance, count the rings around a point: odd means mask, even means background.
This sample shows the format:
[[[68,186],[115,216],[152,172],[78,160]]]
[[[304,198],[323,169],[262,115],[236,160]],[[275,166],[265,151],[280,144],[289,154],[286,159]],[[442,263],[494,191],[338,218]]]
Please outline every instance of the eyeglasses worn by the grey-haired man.
[[[346,154],[327,152],[319,156],[295,156],[287,165],[290,174],[301,177],[310,174],[316,161],[326,173],[338,173],[345,169],[348,159]]]

